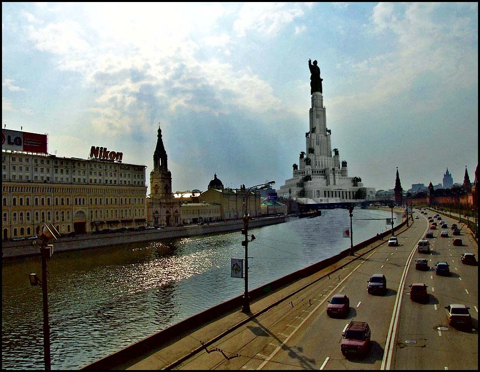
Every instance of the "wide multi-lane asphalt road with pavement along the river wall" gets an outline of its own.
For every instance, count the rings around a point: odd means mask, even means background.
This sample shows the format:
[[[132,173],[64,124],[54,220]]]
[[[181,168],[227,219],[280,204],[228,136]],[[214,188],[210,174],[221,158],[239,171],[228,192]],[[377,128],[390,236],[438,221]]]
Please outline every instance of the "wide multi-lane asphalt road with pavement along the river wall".
[[[415,214],[415,212],[414,212]],[[433,212],[429,211],[429,214]],[[458,222],[442,216],[448,226]],[[161,348],[125,360],[115,369],[478,369],[478,271],[463,265],[460,255],[478,256],[478,246],[462,230],[462,246],[434,231],[430,254],[416,251],[428,230],[423,214],[396,233],[398,247],[377,241],[328,267],[251,304],[252,314],[233,312]],[[445,230],[445,229],[442,229]],[[455,237],[458,238],[458,237]],[[427,258],[428,271],[415,270],[416,258]],[[446,261],[450,276],[435,275],[434,264]],[[373,273],[387,277],[386,295],[367,293]],[[412,302],[408,285],[428,286],[426,304]],[[325,313],[332,294],[346,293],[345,319]],[[447,323],[444,307],[470,308],[472,329]],[[345,358],[342,330],[351,321],[368,322],[372,345],[364,358]],[[111,360],[112,361],[112,360]],[[101,364],[93,363],[87,369]]]

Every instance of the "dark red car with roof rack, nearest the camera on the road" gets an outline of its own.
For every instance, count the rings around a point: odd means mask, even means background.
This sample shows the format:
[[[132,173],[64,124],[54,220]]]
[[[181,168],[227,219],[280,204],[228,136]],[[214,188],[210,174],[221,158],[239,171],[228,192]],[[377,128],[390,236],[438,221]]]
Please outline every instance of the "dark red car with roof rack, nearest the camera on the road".
[[[366,322],[351,321],[342,333],[340,343],[342,354],[348,357],[351,354],[364,356],[370,349],[370,326]]]

